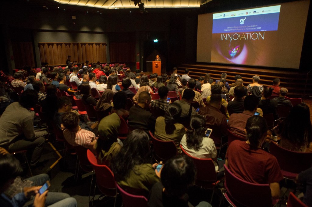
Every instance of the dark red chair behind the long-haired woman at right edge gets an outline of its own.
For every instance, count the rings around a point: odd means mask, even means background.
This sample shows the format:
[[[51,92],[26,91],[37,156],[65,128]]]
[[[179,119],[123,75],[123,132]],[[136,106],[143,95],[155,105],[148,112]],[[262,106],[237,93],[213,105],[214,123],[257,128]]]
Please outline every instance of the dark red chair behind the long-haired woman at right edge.
[[[280,165],[284,178],[295,180],[296,176],[311,167],[312,153],[286,150],[274,142],[270,143],[270,154],[274,155]]]

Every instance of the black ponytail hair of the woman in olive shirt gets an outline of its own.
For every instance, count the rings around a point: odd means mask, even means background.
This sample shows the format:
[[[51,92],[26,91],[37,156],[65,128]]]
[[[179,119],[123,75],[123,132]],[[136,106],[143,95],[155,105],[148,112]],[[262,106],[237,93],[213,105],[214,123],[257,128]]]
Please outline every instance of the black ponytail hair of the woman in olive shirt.
[[[174,124],[180,118],[182,108],[177,103],[172,103],[168,105],[168,108],[165,113],[165,131],[167,134],[173,134],[173,131],[176,129]]]

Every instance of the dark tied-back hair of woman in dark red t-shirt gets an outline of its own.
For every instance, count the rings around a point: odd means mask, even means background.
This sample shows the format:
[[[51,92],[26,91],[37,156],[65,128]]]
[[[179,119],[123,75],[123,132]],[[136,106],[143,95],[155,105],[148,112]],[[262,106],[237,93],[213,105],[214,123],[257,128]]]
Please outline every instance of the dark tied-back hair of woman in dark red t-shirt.
[[[247,119],[246,137],[251,149],[257,149],[263,137],[266,136],[268,126],[261,116],[252,116]]]

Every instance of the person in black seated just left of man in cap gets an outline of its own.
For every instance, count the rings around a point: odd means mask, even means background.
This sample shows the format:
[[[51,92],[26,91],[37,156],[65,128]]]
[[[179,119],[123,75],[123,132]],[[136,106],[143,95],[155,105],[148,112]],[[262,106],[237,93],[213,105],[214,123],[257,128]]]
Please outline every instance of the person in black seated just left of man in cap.
[[[269,97],[272,95],[273,88],[265,88],[262,93],[262,98],[258,104],[258,108],[261,108],[263,111],[263,114],[269,114],[272,113],[274,120],[279,118],[279,115],[277,113],[277,102],[275,100],[269,99]]]

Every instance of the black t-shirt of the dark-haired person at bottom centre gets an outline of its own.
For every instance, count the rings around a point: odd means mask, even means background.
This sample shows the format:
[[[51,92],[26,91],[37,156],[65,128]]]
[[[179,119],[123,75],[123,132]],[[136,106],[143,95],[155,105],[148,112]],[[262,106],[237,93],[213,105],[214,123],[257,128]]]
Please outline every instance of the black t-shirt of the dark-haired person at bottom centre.
[[[182,198],[166,195],[161,182],[157,182],[151,189],[147,205],[149,207],[188,207],[188,199],[188,194],[184,194]]]

